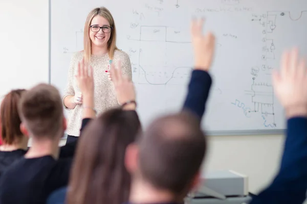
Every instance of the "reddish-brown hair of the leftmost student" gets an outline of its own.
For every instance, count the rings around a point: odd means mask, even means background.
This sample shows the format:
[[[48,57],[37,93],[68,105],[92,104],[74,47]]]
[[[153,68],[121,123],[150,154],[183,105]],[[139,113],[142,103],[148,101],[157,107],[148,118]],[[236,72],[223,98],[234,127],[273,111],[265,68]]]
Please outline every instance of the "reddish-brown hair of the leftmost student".
[[[4,144],[13,144],[23,137],[23,133],[20,132],[18,103],[25,91],[25,89],[12,90],[2,100],[0,117],[1,138]]]

